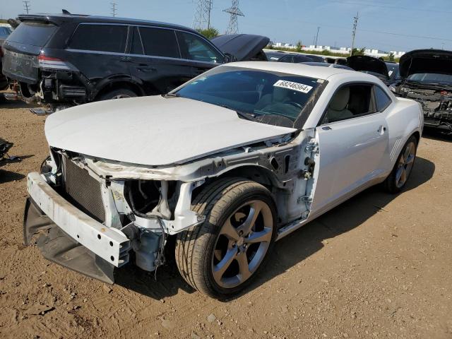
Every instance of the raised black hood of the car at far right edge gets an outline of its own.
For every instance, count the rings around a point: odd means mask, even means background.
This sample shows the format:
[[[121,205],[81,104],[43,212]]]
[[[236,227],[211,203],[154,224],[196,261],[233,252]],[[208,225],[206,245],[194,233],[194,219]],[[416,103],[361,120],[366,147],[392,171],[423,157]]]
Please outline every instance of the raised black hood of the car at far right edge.
[[[400,76],[415,73],[452,74],[452,52],[443,49],[416,49],[400,57]]]

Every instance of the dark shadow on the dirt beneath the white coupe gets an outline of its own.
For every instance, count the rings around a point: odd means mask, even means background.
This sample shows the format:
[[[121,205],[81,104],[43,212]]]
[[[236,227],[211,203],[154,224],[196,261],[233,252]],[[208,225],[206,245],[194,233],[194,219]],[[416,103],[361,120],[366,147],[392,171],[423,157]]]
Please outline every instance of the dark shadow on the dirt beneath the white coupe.
[[[417,157],[415,167],[403,193],[428,182],[434,171],[435,165],[433,162]],[[381,186],[371,187],[316,220],[309,222],[300,230],[281,239],[280,242],[275,244],[275,249],[270,256],[270,258],[277,258],[277,260],[270,259],[266,269],[258,273],[254,283],[241,295],[284,273],[287,269],[321,250],[325,239],[334,238],[359,227],[379,211],[391,213],[385,209],[385,206],[397,196],[386,193]],[[189,293],[194,292],[179,275],[172,258],[169,258],[167,265],[157,271],[157,280],[154,279],[154,273],[148,273],[136,266],[128,265],[128,267],[117,272],[115,283],[153,299],[169,297],[179,293],[180,290]],[[241,295],[236,298],[241,297]],[[226,299],[225,301],[229,300]]]

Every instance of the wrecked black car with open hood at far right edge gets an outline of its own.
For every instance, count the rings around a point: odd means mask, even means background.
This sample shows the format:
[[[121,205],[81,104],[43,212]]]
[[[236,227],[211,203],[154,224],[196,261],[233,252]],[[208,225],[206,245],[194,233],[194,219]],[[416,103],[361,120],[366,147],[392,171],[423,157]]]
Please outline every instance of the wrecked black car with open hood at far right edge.
[[[452,52],[416,49],[399,64],[402,80],[391,90],[420,102],[425,126],[452,133]]]

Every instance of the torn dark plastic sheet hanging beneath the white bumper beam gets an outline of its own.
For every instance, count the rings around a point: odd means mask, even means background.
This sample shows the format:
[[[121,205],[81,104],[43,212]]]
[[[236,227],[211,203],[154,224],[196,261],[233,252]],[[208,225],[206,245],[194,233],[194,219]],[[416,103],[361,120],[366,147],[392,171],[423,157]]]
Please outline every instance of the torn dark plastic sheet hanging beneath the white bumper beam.
[[[25,246],[32,244],[36,234],[40,234],[37,247],[47,260],[104,283],[114,283],[114,266],[111,263],[71,239],[31,198],[27,198],[23,220]]]

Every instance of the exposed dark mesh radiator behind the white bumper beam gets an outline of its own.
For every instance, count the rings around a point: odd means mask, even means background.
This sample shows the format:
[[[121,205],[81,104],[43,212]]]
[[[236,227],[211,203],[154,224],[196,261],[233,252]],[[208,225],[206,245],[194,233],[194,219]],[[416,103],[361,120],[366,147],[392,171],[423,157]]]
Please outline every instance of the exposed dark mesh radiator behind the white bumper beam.
[[[100,182],[91,177],[86,169],[78,167],[66,157],[63,157],[63,164],[64,189],[71,203],[95,220],[105,222]]]

